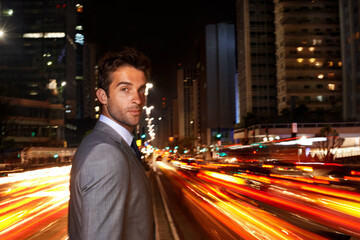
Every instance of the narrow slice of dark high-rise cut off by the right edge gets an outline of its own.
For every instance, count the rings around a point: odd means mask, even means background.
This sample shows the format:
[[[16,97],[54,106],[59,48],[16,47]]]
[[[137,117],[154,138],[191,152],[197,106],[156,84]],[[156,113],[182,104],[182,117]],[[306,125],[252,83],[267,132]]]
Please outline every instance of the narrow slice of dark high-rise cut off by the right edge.
[[[360,1],[339,0],[343,62],[343,119],[360,120]]]

